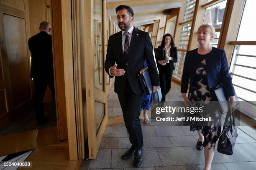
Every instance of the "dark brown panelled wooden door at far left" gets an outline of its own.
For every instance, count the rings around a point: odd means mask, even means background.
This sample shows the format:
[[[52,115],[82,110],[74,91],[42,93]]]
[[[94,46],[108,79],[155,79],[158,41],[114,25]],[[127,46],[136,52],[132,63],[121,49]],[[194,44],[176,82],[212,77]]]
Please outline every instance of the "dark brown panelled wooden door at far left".
[[[28,1],[1,0],[0,15],[0,105],[6,106],[2,107],[0,115],[8,120],[8,117],[16,117],[32,103]]]

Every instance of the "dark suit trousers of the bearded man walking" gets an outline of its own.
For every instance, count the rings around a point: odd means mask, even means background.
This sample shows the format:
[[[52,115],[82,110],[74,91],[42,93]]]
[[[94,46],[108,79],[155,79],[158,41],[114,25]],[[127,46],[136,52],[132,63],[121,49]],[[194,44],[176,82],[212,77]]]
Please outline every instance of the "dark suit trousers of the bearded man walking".
[[[133,148],[141,149],[143,147],[143,136],[141,129],[141,101],[142,96],[137,95],[131,89],[130,83],[126,82],[125,93],[118,94],[118,99],[123,111],[125,127],[129,133],[129,139]]]

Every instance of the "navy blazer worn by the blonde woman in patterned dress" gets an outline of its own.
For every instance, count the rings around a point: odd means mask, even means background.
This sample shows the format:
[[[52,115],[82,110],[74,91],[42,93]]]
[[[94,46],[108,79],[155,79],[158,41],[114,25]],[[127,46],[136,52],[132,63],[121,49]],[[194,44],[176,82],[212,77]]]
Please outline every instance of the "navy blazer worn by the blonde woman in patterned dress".
[[[190,87],[193,85],[193,80],[199,62],[199,55],[200,54],[197,53],[197,48],[187,52],[182,75],[182,93],[187,93],[188,84]],[[205,58],[208,87],[223,85],[224,91],[228,96],[235,95],[232,78],[228,71],[228,60],[225,50],[212,47],[212,50],[207,54]]]

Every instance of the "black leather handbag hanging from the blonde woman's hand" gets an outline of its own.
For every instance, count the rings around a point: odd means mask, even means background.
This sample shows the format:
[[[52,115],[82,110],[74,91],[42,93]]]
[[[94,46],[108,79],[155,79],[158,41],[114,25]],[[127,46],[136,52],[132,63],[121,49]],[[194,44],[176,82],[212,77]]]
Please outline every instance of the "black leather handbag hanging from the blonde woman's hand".
[[[234,112],[228,112],[223,125],[223,130],[220,133],[217,151],[226,155],[232,155],[237,136]]]

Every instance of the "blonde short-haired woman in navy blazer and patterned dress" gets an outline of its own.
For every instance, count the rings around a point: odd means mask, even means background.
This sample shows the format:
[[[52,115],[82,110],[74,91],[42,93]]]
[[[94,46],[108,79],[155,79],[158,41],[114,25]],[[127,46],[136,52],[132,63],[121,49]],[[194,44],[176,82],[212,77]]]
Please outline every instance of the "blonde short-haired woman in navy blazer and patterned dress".
[[[222,49],[211,46],[214,34],[215,30],[211,25],[201,25],[197,30],[199,47],[187,52],[181,85],[182,97],[185,101],[216,101],[217,97],[214,90],[221,85],[230,100],[235,100],[235,91],[228,71],[226,53]],[[187,97],[188,84],[189,94]],[[221,115],[217,114],[215,118],[219,121]],[[190,126],[190,131],[195,130],[199,134],[197,149],[200,150],[205,147],[204,170],[210,170],[215,143],[220,137],[221,126],[217,124]]]

